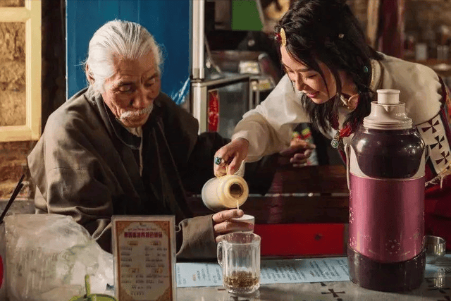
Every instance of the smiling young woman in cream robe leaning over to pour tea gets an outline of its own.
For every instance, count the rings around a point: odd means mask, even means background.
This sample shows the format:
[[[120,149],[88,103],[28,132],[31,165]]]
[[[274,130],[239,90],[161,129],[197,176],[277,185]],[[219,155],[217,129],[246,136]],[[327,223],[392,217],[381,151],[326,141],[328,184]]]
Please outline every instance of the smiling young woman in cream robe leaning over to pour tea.
[[[426,66],[378,53],[365,42],[344,0],[299,0],[276,26],[286,75],[237,124],[232,142],[216,152],[216,176],[242,161],[283,150],[292,128],[310,122],[340,149],[350,143],[376,100],[376,90],[400,90],[421,137],[431,150],[426,166],[426,231],[451,248],[451,102],[447,87]],[[295,163],[304,154],[295,154]]]

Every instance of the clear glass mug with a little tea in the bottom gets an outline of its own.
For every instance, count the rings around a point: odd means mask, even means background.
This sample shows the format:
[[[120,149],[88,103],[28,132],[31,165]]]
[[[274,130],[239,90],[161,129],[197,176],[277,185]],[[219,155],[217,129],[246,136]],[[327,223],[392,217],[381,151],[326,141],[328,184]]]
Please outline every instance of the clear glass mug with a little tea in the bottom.
[[[228,233],[218,242],[218,263],[223,269],[223,285],[229,293],[250,294],[260,287],[259,235]]]

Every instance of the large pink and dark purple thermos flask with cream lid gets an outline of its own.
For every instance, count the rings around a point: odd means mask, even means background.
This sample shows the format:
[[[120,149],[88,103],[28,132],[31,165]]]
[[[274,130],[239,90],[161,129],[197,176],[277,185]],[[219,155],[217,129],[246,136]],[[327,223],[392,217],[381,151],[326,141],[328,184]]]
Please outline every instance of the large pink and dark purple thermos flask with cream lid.
[[[350,280],[371,290],[412,290],[424,278],[427,149],[399,102],[400,91],[377,93],[345,147]]]

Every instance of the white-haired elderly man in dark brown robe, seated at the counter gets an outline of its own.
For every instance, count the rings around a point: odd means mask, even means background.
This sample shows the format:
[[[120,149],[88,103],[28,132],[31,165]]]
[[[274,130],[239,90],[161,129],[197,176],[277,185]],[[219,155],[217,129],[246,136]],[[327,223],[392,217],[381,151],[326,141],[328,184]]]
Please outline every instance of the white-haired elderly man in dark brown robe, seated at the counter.
[[[38,213],[68,214],[111,250],[113,214],[173,214],[178,257],[216,256],[221,235],[252,230],[242,210],[190,218],[185,188],[213,176],[226,140],[160,91],[161,51],[137,23],[113,20],[89,42],[89,87],[51,114],[28,156]],[[216,241],[215,241],[216,240]]]

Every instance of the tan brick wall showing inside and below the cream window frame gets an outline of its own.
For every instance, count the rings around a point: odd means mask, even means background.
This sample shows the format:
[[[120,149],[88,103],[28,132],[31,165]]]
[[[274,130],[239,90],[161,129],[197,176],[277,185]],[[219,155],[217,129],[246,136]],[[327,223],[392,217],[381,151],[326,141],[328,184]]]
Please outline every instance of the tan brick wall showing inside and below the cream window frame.
[[[0,6],[24,6],[23,0],[2,0]],[[25,124],[25,23],[0,23],[0,126]],[[26,156],[33,142],[0,143],[0,199],[9,197],[23,173],[19,197],[30,197]]]

